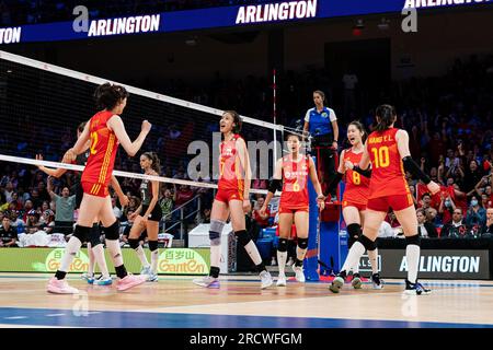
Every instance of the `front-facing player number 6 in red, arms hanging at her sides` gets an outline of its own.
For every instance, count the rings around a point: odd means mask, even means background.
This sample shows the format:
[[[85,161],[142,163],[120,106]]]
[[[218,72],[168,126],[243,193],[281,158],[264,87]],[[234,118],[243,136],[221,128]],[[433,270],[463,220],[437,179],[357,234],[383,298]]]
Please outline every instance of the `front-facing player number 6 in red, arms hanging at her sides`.
[[[290,133],[287,137],[287,147],[290,152],[279,159],[276,163],[274,178],[268,186],[268,194],[261,209],[261,214],[267,210],[272,197],[276,190],[283,190],[279,201],[279,244],[277,247],[277,264],[279,266],[279,277],[277,287],[286,287],[286,259],[288,237],[291,234],[293,223],[296,225],[298,247],[296,249],[296,261],[293,270],[298,282],[305,282],[303,259],[308,248],[308,176],[317,191],[317,205],[323,210],[324,196],[317,177],[317,168],[310,156],[299,153],[301,138]],[[280,185],[283,182],[283,186]]]

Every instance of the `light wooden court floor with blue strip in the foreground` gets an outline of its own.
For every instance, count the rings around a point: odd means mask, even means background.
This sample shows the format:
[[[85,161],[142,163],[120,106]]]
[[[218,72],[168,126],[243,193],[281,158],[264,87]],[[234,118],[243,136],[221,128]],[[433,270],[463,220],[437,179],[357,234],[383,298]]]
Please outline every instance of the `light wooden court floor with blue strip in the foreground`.
[[[0,273],[1,327],[106,328],[431,328],[493,327],[493,281],[425,281],[431,295],[404,295],[402,280],[382,290],[328,282],[260,289],[256,277],[221,277],[219,290],[191,277],[164,277],[126,292],[70,275],[78,295],[46,292],[50,275]]]

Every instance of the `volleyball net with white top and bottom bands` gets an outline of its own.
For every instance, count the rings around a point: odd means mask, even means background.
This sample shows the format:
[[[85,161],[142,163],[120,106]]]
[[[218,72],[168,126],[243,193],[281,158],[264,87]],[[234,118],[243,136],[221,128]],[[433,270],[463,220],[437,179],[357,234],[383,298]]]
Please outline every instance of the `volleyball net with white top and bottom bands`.
[[[0,164],[3,173],[27,171],[27,165],[81,170],[59,161],[74,144],[78,125],[98,112],[93,93],[105,82],[121,84],[130,93],[122,115],[130,139],[137,137],[144,119],[152,124],[152,130],[137,154],[152,151],[160,158],[162,176],[152,179],[217,187],[221,141],[219,119],[223,110],[0,51]],[[253,187],[263,184],[260,187],[265,188],[265,180],[273,175],[275,160],[283,154],[284,127],[241,117],[241,135],[249,148]],[[36,161],[36,154],[43,154],[44,161]],[[138,160],[121,150],[114,175],[146,178],[140,174]],[[252,192],[265,191],[252,188]]]

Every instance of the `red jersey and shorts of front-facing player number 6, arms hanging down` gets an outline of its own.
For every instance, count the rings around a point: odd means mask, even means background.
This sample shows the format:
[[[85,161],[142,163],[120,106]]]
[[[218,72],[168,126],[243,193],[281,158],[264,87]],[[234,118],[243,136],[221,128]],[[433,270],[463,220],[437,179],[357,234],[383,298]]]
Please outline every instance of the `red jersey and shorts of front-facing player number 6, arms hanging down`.
[[[280,194],[279,207],[301,208],[308,207],[308,174],[310,171],[310,159],[300,156],[294,162],[290,155],[283,158],[283,192]]]

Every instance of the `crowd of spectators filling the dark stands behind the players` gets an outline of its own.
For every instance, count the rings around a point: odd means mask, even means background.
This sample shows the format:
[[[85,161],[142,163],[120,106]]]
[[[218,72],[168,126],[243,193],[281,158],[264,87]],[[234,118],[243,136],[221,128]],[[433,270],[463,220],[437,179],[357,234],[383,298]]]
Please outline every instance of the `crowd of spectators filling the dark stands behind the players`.
[[[236,106],[245,115],[252,115],[262,119],[268,115],[265,110],[270,108],[267,92],[270,85],[267,79],[248,77],[242,81],[231,81],[216,75],[210,86],[185,88],[184,83],[164,84],[171,95],[199,102],[205,105],[228,108]],[[308,70],[302,73],[286,72],[279,79],[279,114],[280,122],[297,126],[302,118],[307,106],[310,106],[309,96],[313,86],[331,91],[336,83],[331,81],[323,70]],[[156,86],[144,86],[153,90]],[[435,196],[426,194],[425,187],[411,178],[408,174],[409,185],[413,192],[416,208],[424,219],[422,232],[434,236],[435,232],[429,224],[436,229],[437,236],[479,236],[492,232],[493,209],[492,202],[492,160],[493,160],[493,57],[475,57],[457,59],[447,74],[443,77],[411,79],[394,82],[388,89],[391,93],[383,95],[382,101],[371,102],[377,105],[381,102],[390,102],[397,106],[400,116],[398,127],[406,129],[410,133],[410,148],[415,161],[421,162],[422,167],[431,177],[442,185],[442,191]],[[241,98],[240,98],[241,97]],[[229,103],[228,103],[229,102]],[[357,103],[360,104],[360,101]],[[329,105],[337,114],[337,104],[331,101]],[[374,124],[372,112],[359,114],[357,110],[368,106],[358,106],[358,109],[349,112],[348,116],[339,115],[341,135],[345,135],[345,126],[353,119],[360,119],[371,131]],[[264,114],[264,112],[265,114]],[[289,113],[288,113],[289,112]],[[359,116],[359,117],[358,117]],[[265,117],[264,117],[265,119]],[[25,138],[25,142],[32,139],[45,140],[49,145],[50,159],[59,160],[60,150],[67,149],[74,141],[71,130],[67,130],[58,137],[51,135],[46,125],[36,125],[31,120],[24,125],[23,130],[36,137]],[[164,127],[164,126],[163,126]],[[156,136],[156,144],[159,148],[160,138],[168,143],[173,138],[180,139],[190,129],[188,124],[169,126],[163,133]],[[215,122],[210,122],[208,131],[214,131]],[[187,138],[194,138],[204,130],[196,128]],[[21,129],[19,129],[21,130]],[[46,135],[45,135],[46,131]],[[254,132],[254,131],[246,131]],[[249,135],[245,135],[249,139]],[[27,147],[11,142],[12,135],[0,133],[0,151],[2,153],[34,158],[26,154]],[[198,138],[200,139],[200,138]],[[44,142],[44,141],[43,141]],[[59,142],[59,144],[57,143]],[[185,142],[186,143],[186,142]],[[341,147],[346,147],[342,144]],[[12,148],[13,147],[13,148]],[[171,156],[168,149],[161,150],[163,154],[163,166],[161,174],[167,177],[187,178],[187,159]],[[31,150],[30,152],[34,152]],[[168,158],[165,158],[165,155]],[[169,162],[173,159],[174,163]],[[138,163],[122,158],[118,154],[116,168],[139,173]],[[210,182],[211,176],[204,176],[200,180]],[[68,225],[68,220],[58,220],[60,198],[73,196],[73,173],[68,172],[58,179],[48,182],[47,177],[37,168],[23,164],[0,163],[0,222],[4,218],[10,219],[8,231],[15,228],[18,233],[33,231],[58,231],[60,225]],[[49,186],[48,186],[49,185]],[[256,179],[254,188],[266,188],[265,179]],[[122,179],[122,188],[133,200],[127,208],[121,208],[117,198],[114,199],[115,214],[122,222],[127,221],[128,212],[138,207],[139,180],[133,178]],[[207,222],[210,215],[213,201],[211,190],[204,188],[191,188],[188,186],[173,186],[163,184],[161,187],[160,206],[164,213],[164,224],[179,221],[180,212],[171,214],[174,208],[187,202],[196,196],[200,197],[199,215],[188,219],[193,222],[198,217],[199,222]],[[64,199],[68,200],[68,199]],[[255,198],[255,201],[259,199]],[[261,199],[260,199],[261,200]],[[198,209],[197,201],[185,211],[188,213]],[[57,212],[58,211],[58,212]],[[459,217],[460,211],[460,217]],[[266,224],[265,218],[257,218],[253,212],[253,220],[261,228]],[[77,218],[73,217],[73,220]],[[389,214],[389,223],[398,228],[399,223]],[[460,224],[459,224],[460,223]],[[463,229],[459,226],[462,225]],[[2,228],[4,225],[2,224]],[[459,228],[459,229],[457,229]],[[456,230],[457,229],[457,230]],[[0,231],[3,232],[3,231]],[[5,241],[2,241],[5,244]],[[8,243],[8,242],[7,242]]]

